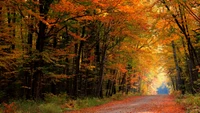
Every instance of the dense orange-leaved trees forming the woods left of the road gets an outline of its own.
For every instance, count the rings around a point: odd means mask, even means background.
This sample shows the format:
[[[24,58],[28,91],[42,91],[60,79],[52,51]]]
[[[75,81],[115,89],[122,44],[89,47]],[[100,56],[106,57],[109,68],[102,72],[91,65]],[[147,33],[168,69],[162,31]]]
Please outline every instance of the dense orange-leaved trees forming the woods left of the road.
[[[149,27],[139,1],[1,2],[2,101],[139,92],[137,54],[148,43],[140,34]]]

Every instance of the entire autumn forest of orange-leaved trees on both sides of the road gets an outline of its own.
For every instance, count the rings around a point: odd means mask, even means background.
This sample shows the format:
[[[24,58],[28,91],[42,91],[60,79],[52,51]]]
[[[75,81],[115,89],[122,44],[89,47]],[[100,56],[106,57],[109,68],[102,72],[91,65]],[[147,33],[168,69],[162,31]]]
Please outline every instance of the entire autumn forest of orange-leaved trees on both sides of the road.
[[[199,93],[199,15],[199,0],[0,0],[0,102],[155,94],[163,78]]]

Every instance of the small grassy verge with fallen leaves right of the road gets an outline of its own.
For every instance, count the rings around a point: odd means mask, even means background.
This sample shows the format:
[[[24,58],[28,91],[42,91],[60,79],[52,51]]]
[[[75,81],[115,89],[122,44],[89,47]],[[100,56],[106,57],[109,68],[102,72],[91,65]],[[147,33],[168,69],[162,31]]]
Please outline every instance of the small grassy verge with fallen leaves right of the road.
[[[174,92],[173,95],[179,104],[185,106],[186,113],[200,113],[200,94],[181,95],[180,92]]]

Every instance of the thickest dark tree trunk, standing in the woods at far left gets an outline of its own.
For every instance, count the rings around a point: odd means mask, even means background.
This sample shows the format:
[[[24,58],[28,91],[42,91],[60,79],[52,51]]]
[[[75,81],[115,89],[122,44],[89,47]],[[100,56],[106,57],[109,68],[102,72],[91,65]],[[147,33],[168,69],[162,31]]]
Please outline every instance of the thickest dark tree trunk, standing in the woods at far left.
[[[39,0],[39,13],[40,16],[44,19],[47,20],[47,13],[49,11],[50,8],[50,4],[53,2],[53,0]],[[47,26],[45,23],[43,23],[42,21],[39,21],[38,24],[38,37],[37,37],[37,41],[36,41],[36,50],[38,50],[39,53],[44,51],[44,43],[45,43],[45,39],[46,37],[46,30],[47,30]],[[43,72],[41,70],[41,67],[44,66],[44,62],[42,59],[42,56],[39,55],[38,56],[38,60],[34,62],[34,70],[35,73],[33,74],[33,98],[38,99],[41,97],[41,80],[43,77]]]

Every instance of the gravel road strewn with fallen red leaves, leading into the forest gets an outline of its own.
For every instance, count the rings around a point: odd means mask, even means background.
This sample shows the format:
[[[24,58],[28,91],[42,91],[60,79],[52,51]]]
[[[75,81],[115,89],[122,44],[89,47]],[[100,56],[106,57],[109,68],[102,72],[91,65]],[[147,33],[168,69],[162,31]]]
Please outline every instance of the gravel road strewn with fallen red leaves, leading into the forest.
[[[69,113],[185,113],[185,110],[175,102],[173,96],[152,95],[134,96]]]

